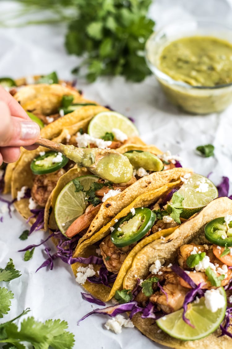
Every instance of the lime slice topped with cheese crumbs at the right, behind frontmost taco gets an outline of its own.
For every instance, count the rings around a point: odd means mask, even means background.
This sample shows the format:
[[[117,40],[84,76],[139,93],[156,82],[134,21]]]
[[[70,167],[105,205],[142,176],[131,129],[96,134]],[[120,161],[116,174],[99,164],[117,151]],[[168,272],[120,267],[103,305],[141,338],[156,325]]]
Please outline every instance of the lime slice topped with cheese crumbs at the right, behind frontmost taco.
[[[211,180],[197,173],[193,173],[177,192],[184,197],[182,206],[179,208],[183,210],[180,216],[185,219],[218,197],[217,188]],[[167,211],[171,213],[170,205],[168,205]]]

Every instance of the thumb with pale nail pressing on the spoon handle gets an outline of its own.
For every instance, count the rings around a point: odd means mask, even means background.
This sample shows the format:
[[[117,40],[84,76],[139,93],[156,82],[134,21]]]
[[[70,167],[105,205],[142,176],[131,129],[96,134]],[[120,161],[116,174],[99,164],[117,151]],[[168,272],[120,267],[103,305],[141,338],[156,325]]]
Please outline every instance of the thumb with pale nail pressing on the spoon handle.
[[[38,124],[11,116],[8,105],[0,101],[0,147],[29,146],[39,134]]]

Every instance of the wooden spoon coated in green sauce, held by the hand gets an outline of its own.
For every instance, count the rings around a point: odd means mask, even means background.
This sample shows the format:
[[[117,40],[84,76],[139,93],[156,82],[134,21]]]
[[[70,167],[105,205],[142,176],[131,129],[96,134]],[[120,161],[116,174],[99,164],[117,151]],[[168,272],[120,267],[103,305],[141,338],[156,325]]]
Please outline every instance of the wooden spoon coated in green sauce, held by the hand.
[[[44,138],[39,138],[35,144],[58,151],[73,160],[79,168],[86,167],[96,176],[113,183],[126,183],[133,174],[128,158],[112,149],[76,148]]]

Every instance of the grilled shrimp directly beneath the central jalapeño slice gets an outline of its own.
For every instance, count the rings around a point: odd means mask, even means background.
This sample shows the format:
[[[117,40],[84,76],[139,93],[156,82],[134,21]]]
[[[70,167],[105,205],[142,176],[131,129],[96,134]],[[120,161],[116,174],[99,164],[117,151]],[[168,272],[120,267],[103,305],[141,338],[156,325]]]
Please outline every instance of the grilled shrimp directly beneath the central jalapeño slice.
[[[101,255],[103,257],[104,264],[109,272],[114,274],[118,274],[122,263],[126,259],[128,253],[132,250],[132,248],[136,245],[136,243],[131,244],[125,247],[116,247],[110,239],[110,235],[108,235],[100,244]],[[110,258],[109,258],[110,257]],[[107,260],[106,260],[107,259]]]

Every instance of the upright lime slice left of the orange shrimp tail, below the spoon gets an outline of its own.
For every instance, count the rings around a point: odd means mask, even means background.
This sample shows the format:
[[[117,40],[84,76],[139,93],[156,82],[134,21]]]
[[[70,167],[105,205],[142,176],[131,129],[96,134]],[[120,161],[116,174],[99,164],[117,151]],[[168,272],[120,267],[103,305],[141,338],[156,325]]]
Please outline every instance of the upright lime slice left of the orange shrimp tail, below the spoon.
[[[97,182],[97,176],[77,177],[84,190],[89,190],[91,183]],[[55,218],[59,230],[65,235],[66,230],[79,216],[83,214],[87,206],[84,192],[75,192],[75,185],[71,180],[59,193],[55,204]]]

